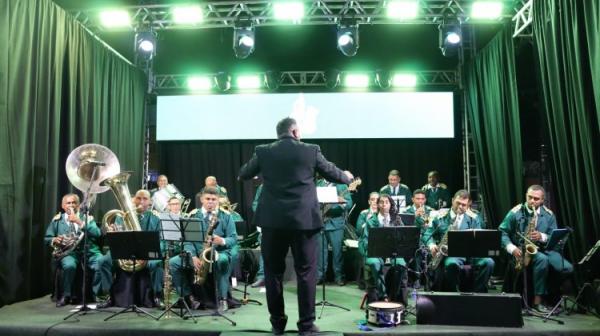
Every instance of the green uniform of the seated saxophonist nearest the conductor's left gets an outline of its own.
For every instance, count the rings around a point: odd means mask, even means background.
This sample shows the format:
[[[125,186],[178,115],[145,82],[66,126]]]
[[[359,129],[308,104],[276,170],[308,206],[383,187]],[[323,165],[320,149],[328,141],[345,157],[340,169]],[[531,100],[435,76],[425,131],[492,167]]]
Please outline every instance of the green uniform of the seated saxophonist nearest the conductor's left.
[[[200,219],[198,230],[206,232],[209,227],[210,218],[203,208],[194,209],[190,215],[193,218]],[[217,281],[217,293],[220,299],[227,298],[229,292],[229,276],[231,275],[231,261],[238,254],[237,232],[235,223],[231,215],[224,211],[213,212],[211,216],[217,216],[217,225],[213,231],[213,235],[217,235],[225,240],[225,245],[215,245],[215,250],[219,254],[219,259],[213,264],[213,275]],[[211,217],[212,218],[212,217]],[[183,249],[190,255],[202,257],[201,253],[204,250],[204,242],[185,242]],[[169,260],[169,269],[173,277],[173,284],[177,288],[178,293],[183,296],[191,294],[190,278],[185,276],[184,271],[187,265],[193,269],[191,257],[189,261],[182,262],[180,256],[175,256]]]

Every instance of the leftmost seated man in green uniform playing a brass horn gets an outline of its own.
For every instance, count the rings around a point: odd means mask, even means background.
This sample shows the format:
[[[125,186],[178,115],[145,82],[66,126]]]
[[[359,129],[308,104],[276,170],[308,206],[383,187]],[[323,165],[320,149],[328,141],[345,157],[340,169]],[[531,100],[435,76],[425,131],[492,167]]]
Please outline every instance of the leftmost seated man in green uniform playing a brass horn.
[[[54,262],[59,263],[62,268],[62,297],[56,298],[57,307],[68,304],[72,298],[75,272],[83,256],[83,238],[78,242],[82,230],[85,230],[88,235],[87,265],[93,272],[92,286],[96,296],[108,293],[112,277],[111,264],[104,262],[97,244],[97,239],[101,235],[100,228],[92,216],[88,217],[87,225],[84,224],[84,214],[79,211],[79,196],[76,194],[63,196],[61,207],[64,212],[52,218],[44,238],[45,243],[55,250]],[[69,246],[73,248],[71,251]]]

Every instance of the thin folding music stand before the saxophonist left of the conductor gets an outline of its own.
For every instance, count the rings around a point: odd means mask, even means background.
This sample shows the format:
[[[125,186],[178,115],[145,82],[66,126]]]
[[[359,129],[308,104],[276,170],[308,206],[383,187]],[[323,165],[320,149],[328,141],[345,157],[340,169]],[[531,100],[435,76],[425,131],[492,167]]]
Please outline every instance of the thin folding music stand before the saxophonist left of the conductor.
[[[187,265],[187,258],[189,257],[184,249],[183,244],[185,242],[202,242],[204,241],[204,232],[198,229],[197,226],[190,225],[190,223],[199,223],[200,219],[198,218],[184,218],[179,215],[166,214],[166,218],[164,215],[161,215],[160,219],[160,233],[162,235],[162,239],[167,243],[178,242],[179,243],[179,257],[181,260],[182,267]],[[171,282],[172,283],[172,282]],[[194,323],[198,323],[198,321],[194,318],[192,314],[192,310],[190,306],[185,302],[185,298],[183,297],[183,287],[179,291],[179,298],[173,304],[169,304],[165,302],[165,311],[162,312],[158,316],[158,320],[160,320],[163,316],[166,316],[168,312],[172,312],[175,315],[179,316],[181,319],[186,319],[186,317],[191,317]],[[163,297],[166,293],[163,293]],[[179,312],[175,310],[175,306],[179,307]],[[185,312],[184,312],[185,309]]]

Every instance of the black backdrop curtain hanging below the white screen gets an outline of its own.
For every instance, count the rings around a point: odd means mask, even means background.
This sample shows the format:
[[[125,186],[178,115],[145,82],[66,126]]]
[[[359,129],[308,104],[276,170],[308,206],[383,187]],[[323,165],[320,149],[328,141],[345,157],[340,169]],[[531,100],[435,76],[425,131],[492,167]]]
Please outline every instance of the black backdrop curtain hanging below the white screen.
[[[273,134],[275,123],[273,121]],[[456,120],[460,125],[460,121]],[[224,126],[226,127],[226,126]],[[377,127],[377,121],[373,125]],[[457,129],[455,127],[455,129]],[[187,197],[193,197],[204,186],[204,178],[214,175],[219,185],[228,190],[232,202],[239,203],[239,212],[250,219],[255,186],[236,180],[239,168],[250,159],[254,146],[264,141],[196,141],[159,142],[160,172],[169,177]],[[462,151],[460,138],[454,139],[352,139],[306,140],[321,146],[325,157],[341,169],[348,169],[363,180],[354,201],[358,212],[367,207],[368,193],[379,191],[387,184],[391,169],[398,169],[402,183],[411,190],[427,183],[427,172],[439,170],[442,181],[451,192],[462,188]],[[194,202],[192,202],[193,208]]]

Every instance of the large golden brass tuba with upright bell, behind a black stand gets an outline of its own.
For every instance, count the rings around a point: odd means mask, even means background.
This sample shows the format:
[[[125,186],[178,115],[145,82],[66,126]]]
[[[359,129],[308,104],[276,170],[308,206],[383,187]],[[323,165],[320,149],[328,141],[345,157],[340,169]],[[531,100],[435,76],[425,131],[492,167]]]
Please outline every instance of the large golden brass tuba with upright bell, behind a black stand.
[[[107,186],[112,190],[113,194],[117,198],[119,209],[113,209],[108,211],[104,217],[102,217],[102,226],[108,227],[110,223],[114,221],[116,216],[123,218],[123,230],[124,231],[142,231],[140,222],[138,220],[135,206],[131,200],[131,194],[129,193],[129,186],[127,186],[127,180],[131,176],[130,172],[121,172],[115,176],[109,177],[102,181],[102,186]],[[110,231],[110,230],[109,230]],[[136,260],[135,270],[141,270],[147,264],[147,260]],[[133,271],[133,261],[127,259],[119,259],[119,267],[126,271]]]

